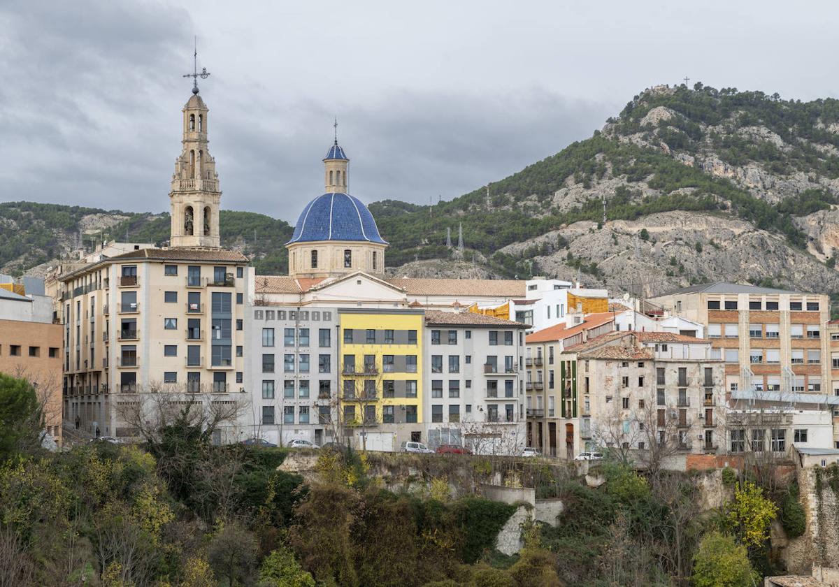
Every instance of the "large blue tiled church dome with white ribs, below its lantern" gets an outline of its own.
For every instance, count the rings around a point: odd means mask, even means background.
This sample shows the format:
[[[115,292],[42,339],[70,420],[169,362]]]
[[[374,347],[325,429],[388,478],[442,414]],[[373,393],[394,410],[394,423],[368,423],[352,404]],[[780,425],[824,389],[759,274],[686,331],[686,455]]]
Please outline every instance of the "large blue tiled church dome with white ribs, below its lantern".
[[[311,200],[300,213],[294,235],[286,244],[315,241],[388,244],[379,236],[376,221],[367,206],[349,194],[324,194]]]

